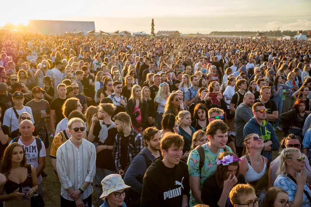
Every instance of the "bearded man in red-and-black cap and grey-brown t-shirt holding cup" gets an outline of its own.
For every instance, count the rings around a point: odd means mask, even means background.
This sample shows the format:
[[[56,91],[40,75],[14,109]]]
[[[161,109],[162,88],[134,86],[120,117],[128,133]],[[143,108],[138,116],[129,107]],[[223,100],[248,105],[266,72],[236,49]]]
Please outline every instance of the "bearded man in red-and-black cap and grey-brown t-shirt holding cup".
[[[33,100],[29,101],[26,106],[29,106],[34,118],[34,126],[39,133],[39,138],[43,141],[45,148],[49,147],[48,131],[45,128],[46,119],[50,117],[49,102],[43,99],[45,91],[41,87],[34,87],[32,89]]]

